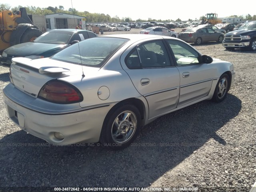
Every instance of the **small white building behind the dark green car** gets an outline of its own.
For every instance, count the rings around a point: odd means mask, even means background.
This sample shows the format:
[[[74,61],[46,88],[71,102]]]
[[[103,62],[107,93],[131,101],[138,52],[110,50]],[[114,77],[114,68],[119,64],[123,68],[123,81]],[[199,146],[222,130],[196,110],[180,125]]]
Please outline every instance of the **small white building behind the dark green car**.
[[[52,29],[75,29],[78,23],[82,25],[83,29],[86,29],[86,19],[84,16],[54,13],[45,15],[45,18],[47,31]]]

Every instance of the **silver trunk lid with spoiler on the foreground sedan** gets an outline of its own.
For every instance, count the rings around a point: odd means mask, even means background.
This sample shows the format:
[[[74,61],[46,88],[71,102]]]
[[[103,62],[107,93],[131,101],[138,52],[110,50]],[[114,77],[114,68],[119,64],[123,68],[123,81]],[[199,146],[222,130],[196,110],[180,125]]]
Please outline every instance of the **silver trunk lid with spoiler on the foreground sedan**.
[[[37,98],[42,86],[50,80],[61,79],[70,82],[70,76],[77,77],[74,81],[82,77],[82,66],[50,58],[13,58],[12,62],[10,72],[14,86],[34,98]],[[89,73],[92,70],[98,71],[99,68],[83,66],[83,70]]]

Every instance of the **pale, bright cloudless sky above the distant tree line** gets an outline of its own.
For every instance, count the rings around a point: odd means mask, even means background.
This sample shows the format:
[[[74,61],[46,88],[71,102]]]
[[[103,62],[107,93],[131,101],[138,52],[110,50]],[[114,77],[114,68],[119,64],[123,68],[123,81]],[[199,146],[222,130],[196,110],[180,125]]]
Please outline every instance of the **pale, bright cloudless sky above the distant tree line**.
[[[180,2],[180,3],[179,3]],[[36,6],[46,8],[48,6],[63,6],[64,10],[75,8],[78,11],[88,11],[90,13],[103,13],[111,17],[118,16],[122,18],[132,18],[132,20],[152,18],[155,20],[176,20],[180,18],[182,21],[188,19],[199,19],[206,13],[216,13],[218,18],[228,17],[231,15],[255,15],[255,6],[241,8],[235,1],[225,0],[182,0],[182,1],[144,1],[144,0],[6,0],[1,4],[9,4],[15,6]],[[251,3],[249,3],[251,4]]]

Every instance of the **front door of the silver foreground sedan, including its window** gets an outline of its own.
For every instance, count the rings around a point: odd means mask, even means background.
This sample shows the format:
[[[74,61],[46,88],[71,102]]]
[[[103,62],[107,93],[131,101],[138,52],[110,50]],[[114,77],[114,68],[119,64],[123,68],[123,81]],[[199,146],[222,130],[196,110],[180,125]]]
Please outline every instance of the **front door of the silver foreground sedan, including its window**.
[[[180,73],[180,98],[178,107],[207,96],[216,70],[210,64],[198,61],[199,53],[185,42],[167,40],[176,59]]]

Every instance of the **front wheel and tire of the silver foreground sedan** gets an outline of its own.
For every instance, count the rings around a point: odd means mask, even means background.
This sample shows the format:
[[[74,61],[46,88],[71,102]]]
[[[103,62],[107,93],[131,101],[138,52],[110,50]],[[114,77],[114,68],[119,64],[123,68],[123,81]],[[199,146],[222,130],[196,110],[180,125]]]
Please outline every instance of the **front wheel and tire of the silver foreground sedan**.
[[[222,74],[214,90],[212,101],[216,103],[222,102],[227,96],[229,84],[229,76],[227,74]]]

